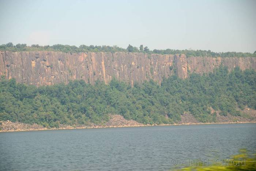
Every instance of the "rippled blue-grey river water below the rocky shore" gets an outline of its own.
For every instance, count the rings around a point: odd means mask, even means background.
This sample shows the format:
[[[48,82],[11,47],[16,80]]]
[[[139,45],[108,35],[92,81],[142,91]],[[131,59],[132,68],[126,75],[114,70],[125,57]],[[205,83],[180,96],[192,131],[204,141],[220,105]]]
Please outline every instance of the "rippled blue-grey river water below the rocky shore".
[[[0,133],[0,170],[169,170],[256,149],[256,124]]]

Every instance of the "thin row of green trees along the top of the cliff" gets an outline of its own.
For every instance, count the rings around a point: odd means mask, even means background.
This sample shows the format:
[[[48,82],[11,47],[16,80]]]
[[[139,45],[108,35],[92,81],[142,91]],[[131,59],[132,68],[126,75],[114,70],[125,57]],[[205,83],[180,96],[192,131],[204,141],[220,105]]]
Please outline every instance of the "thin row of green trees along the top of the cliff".
[[[144,47],[140,45],[139,49],[132,45],[129,45],[127,49],[117,47],[117,46],[86,46],[80,45],[79,47],[70,46],[70,45],[53,45],[53,46],[39,46],[39,45],[31,45],[27,46],[26,44],[17,44],[13,45],[11,42],[7,44],[0,45],[0,50],[8,50],[8,51],[60,51],[65,53],[79,53],[79,52],[143,52],[148,54],[185,54],[187,57],[191,56],[208,56],[208,57],[256,57],[256,51],[252,53],[242,53],[242,52],[211,52],[210,50],[174,50],[174,49],[166,49],[166,50],[157,50],[153,51],[148,49],[148,47]]]

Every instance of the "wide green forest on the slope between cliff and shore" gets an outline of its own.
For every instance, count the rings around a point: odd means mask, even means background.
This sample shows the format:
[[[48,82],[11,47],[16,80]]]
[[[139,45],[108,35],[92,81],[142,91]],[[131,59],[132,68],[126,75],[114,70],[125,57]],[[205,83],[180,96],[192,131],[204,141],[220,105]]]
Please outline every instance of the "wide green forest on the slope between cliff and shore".
[[[35,87],[15,79],[0,81],[0,120],[38,123],[45,127],[103,124],[109,114],[120,114],[145,124],[175,123],[184,112],[200,122],[215,122],[216,113],[242,115],[245,106],[256,109],[256,72],[220,66],[213,73],[190,73],[188,79],[163,78],[129,84],[113,79],[94,85],[83,80]],[[166,115],[168,117],[166,117]]]

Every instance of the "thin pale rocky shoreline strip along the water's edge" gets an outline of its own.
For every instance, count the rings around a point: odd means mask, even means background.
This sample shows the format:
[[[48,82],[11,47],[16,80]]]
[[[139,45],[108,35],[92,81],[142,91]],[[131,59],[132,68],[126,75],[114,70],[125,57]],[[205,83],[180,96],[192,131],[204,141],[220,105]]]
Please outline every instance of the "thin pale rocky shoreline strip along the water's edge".
[[[235,124],[235,123],[256,123],[256,121],[248,122],[206,122],[206,123],[174,123],[174,124],[160,124],[160,125],[118,125],[118,126],[67,126],[63,128],[39,128],[39,129],[11,129],[0,130],[1,132],[27,132],[27,131],[41,131],[41,130],[64,130],[64,129],[94,129],[94,128],[126,128],[126,127],[146,127],[146,126],[180,126],[180,125],[214,125],[214,124]]]

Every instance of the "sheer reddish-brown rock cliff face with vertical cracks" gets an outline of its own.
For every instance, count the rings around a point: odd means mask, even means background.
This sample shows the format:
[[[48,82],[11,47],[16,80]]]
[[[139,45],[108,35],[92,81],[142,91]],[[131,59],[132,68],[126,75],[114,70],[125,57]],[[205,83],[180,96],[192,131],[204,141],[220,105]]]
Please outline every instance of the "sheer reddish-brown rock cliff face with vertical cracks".
[[[189,57],[184,54],[161,55],[125,52],[8,52],[0,51],[0,75],[15,78],[26,84],[52,85],[83,79],[109,83],[113,77],[130,83],[153,79],[161,83],[163,77],[176,74],[185,79],[189,73],[212,72],[219,65],[229,69],[256,69],[256,58]]]

